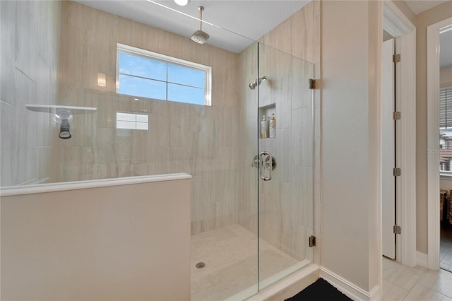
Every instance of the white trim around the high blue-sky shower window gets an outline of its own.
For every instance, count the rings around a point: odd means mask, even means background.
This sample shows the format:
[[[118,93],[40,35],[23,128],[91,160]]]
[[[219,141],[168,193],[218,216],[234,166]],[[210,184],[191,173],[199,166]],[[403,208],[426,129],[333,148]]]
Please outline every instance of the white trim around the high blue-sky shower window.
[[[186,66],[192,69],[198,69],[206,72],[206,88],[204,90],[204,105],[212,105],[212,67],[194,63],[193,61],[186,61],[184,59],[177,59],[176,57],[169,57],[165,54],[160,54],[157,52],[150,52],[145,49],[140,49],[137,47],[132,47],[129,45],[124,45],[117,43],[117,56],[116,56],[116,93],[119,94],[119,54],[129,53],[136,55],[138,57],[143,57],[143,59],[157,59],[160,61],[165,61],[167,63],[173,63],[180,66]],[[182,102],[184,103],[184,102]]]

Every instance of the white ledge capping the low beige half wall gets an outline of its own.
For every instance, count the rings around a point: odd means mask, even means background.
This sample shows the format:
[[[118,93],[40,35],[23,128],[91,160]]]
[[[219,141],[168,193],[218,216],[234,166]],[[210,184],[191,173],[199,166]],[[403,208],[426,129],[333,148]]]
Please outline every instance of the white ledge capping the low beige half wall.
[[[53,191],[109,187],[109,186],[140,184],[140,183],[148,183],[148,182],[174,181],[174,180],[178,180],[178,179],[191,179],[191,175],[188,175],[185,173],[179,173],[179,174],[169,174],[169,175],[117,177],[117,178],[113,178],[113,179],[93,179],[93,180],[88,180],[88,181],[2,187],[0,189],[0,196],[18,196],[18,195],[23,195],[23,194],[42,194],[44,192],[53,192]]]

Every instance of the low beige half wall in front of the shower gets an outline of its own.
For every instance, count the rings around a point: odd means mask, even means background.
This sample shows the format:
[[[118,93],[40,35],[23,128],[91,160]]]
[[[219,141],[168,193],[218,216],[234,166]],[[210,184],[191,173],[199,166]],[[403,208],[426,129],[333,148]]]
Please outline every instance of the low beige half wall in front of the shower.
[[[190,300],[189,175],[37,189],[2,191],[1,300]]]

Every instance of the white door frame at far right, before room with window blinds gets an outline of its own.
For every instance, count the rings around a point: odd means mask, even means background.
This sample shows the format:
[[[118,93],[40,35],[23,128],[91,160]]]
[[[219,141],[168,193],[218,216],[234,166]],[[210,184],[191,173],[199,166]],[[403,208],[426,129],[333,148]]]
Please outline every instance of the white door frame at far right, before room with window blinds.
[[[428,268],[439,269],[439,30],[452,18],[427,26],[427,227]]]

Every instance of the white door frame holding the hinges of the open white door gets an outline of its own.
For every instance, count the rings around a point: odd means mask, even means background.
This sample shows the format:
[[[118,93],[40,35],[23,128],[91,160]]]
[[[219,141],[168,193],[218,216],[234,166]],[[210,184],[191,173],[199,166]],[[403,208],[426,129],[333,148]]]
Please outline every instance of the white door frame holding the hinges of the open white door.
[[[396,218],[401,235],[396,236],[396,260],[407,266],[416,262],[416,31],[415,25],[393,4],[384,1],[383,29],[396,37],[396,102],[401,112],[397,129],[398,167]],[[403,155],[400,155],[403,154]]]

